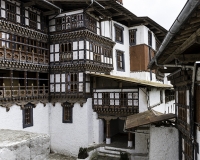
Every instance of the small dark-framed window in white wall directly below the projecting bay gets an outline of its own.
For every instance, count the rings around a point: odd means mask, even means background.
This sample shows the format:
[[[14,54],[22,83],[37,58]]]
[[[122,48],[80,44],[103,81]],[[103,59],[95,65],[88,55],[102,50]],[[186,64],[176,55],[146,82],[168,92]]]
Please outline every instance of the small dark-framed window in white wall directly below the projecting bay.
[[[73,104],[65,102],[63,104],[63,123],[72,123]]]

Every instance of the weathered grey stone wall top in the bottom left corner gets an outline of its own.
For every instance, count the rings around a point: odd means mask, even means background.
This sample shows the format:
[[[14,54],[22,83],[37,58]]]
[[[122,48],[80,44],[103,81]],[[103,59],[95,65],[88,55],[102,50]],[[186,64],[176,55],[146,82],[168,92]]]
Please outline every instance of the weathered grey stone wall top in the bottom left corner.
[[[50,152],[50,136],[0,129],[0,160],[44,160]]]

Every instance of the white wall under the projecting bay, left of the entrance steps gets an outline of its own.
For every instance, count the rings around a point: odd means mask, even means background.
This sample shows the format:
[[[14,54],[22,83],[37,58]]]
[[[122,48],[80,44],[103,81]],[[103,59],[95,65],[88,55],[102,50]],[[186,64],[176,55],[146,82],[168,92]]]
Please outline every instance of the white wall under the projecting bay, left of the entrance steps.
[[[83,107],[79,103],[74,104],[72,119],[72,123],[62,123],[60,103],[51,105],[50,136],[53,152],[77,156],[79,147],[103,142],[103,122],[93,112],[91,98],[87,99]]]

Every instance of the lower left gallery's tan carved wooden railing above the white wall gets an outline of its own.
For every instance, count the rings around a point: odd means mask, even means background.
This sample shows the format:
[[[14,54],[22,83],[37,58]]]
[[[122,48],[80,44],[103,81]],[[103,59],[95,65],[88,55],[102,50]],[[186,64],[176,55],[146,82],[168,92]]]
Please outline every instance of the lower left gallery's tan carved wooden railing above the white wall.
[[[0,99],[3,98],[25,98],[25,97],[47,97],[48,86],[0,86]]]

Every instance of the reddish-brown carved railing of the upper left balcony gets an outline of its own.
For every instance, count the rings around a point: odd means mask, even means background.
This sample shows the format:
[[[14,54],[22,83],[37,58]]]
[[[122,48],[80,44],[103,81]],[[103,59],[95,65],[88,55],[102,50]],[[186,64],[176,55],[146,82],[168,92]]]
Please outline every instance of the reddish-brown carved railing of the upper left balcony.
[[[0,60],[48,65],[49,56],[45,54],[42,55],[34,53],[34,51],[25,52],[22,51],[20,48],[13,51],[13,49],[9,49],[3,46],[2,48],[0,48]]]

